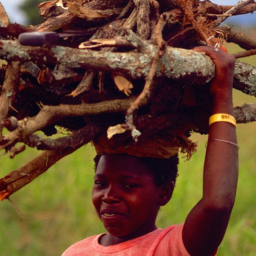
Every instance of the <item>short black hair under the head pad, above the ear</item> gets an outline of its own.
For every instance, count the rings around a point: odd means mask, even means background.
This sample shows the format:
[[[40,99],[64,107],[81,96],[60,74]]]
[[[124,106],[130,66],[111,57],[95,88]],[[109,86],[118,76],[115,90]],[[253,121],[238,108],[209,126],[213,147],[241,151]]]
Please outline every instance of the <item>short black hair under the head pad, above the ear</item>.
[[[95,171],[102,154],[97,154],[94,158]],[[170,158],[150,158],[150,157],[138,157],[146,168],[154,176],[154,183],[156,186],[167,184],[169,181],[173,181],[174,185],[178,176],[178,154]]]

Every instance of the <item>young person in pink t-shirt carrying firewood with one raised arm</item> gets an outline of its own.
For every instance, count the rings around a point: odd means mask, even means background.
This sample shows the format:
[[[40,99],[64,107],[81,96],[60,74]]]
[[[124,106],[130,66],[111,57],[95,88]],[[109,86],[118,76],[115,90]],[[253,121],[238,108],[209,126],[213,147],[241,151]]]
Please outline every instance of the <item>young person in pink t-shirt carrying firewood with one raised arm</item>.
[[[155,220],[159,207],[172,197],[177,155],[170,159],[146,159],[127,154],[102,154],[96,161],[93,204],[108,233],[75,243],[62,256],[216,254],[230,219],[238,179],[232,103],[235,61],[233,56],[214,47],[194,50],[205,52],[216,65],[210,87],[212,116],[202,199],[184,223],[158,229]]]

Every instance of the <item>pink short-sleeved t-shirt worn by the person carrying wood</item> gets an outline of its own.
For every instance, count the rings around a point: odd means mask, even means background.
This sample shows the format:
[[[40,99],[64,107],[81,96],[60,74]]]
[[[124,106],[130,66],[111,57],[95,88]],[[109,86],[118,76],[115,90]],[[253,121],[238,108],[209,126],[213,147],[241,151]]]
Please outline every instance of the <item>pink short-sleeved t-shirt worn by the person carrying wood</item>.
[[[182,242],[181,225],[156,229],[124,243],[104,247],[98,243],[103,235],[86,238],[69,247],[62,256],[189,256]]]

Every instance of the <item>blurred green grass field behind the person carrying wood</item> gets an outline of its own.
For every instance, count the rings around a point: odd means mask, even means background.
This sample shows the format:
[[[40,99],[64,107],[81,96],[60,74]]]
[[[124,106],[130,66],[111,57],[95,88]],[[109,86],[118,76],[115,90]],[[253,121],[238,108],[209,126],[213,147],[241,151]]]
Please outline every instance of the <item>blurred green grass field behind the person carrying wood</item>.
[[[237,46],[229,45],[230,53]],[[254,57],[246,59],[256,66]],[[234,90],[234,106],[256,98]],[[256,123],[238,124],[239,182],[234,210],[219,249],[220,256],[256,255]],[[203,159],[207,136],[194,134],[198,150],[190,160],[180,160],[173,197],[159,212],[157,225],[166,227],[185,221],[202,196]],[[0,158],[0,177],[33,159],[38,152],[27,148],[15,159]],[[91,145],[82,147],[47,172],[0,202],[0,256],[57,256],[83,238],[105,232],[91,203],[93,157]]]

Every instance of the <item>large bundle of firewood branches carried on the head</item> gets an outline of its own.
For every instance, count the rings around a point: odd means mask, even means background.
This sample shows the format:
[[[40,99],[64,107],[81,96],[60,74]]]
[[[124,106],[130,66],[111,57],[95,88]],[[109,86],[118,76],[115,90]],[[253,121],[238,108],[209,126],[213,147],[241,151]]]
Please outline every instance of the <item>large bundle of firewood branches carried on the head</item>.
[[[53,0],[30,27],[0,9],[0,149],[12,158],[25,146],[44,150],[0,180],[0,200],[102,132],[120,145],[172,131],[186,148],[190,132],[207,133],[214,76],[193,47],[228,41],[245,49],[237,58],[256,53],[256,41],[221,26],[256,10],[253,0]],[[256,68],[237,61],[234,88],[256,96],[255,82]],[[256,104],[235,115],[255,121]],[[49,138],[60,130],[65,137]]]

